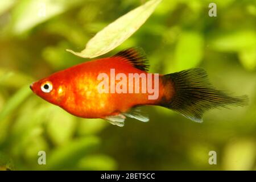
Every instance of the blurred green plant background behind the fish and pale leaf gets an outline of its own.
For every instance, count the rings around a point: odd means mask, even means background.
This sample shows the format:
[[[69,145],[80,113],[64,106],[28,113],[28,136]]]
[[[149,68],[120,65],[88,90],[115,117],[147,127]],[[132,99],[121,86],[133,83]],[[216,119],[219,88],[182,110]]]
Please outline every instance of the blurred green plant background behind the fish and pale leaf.
[[[31,82],[89,60],[65,49],[81,51],[144,2],[0,1],[0,169],[256,169],[256,1],[163,0],[131,38],[101,56],[140,46],[150,72],[203,67],[217,88],[247,94],[249,106],[209,111],[203,123],[146,106],[150,122],[117,127],[73,117],[32,94]],[[208,15],[210,2],[217,17]],[[212,150],[217,165],[208,163]],[[46,165],[38,164],[39,151]]]

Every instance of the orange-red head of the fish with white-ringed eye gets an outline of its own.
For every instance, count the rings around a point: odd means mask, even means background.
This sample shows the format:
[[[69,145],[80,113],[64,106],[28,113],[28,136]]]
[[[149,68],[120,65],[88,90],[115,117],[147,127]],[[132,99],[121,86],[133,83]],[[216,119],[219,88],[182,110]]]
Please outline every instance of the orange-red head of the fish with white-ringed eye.
[[[44,100],[59,106],[67,93],[65,82],[57,75],[33,82],[30,89]]]

